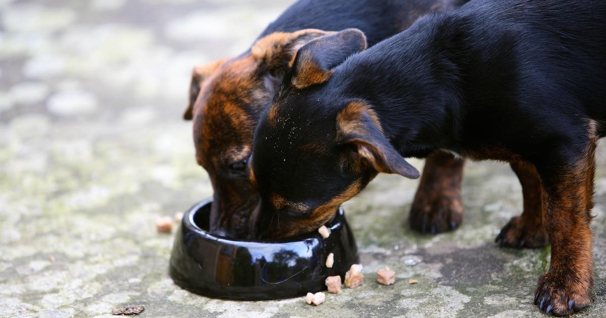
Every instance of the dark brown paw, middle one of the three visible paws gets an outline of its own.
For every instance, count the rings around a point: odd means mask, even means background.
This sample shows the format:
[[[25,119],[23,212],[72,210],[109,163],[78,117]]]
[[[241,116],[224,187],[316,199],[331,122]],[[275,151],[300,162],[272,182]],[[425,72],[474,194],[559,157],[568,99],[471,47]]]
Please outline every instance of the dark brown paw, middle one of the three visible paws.
[[[528,222],[523,216],[515,216],[502,228],[494,242],[501,247],[539,248],[549,243],[549,236],[542,224]]]

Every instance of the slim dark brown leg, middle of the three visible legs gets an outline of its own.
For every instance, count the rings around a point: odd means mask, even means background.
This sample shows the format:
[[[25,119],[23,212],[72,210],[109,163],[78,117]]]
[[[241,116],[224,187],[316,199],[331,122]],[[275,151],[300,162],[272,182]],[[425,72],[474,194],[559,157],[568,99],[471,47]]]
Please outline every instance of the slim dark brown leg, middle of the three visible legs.
[[[502,247],[544,247],[549,242],[549,237],[542,221],[542,190],[539,174],[530,162],[512,161],[510,165],[522,185],[524,211],[521,216],[511,218],[502,228],[495,242],[500,243]]]

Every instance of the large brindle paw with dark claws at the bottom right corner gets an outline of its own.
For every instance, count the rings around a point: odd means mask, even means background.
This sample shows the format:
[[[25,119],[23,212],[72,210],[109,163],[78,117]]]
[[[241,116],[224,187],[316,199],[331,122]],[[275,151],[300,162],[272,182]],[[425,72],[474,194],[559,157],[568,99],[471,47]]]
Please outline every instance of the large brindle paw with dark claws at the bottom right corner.
[[[539,279],[534,305],[547,314],[567,316],[589,305],[590,291],[590,283],[572,282],[571,277],[551,277],[547,273]]]

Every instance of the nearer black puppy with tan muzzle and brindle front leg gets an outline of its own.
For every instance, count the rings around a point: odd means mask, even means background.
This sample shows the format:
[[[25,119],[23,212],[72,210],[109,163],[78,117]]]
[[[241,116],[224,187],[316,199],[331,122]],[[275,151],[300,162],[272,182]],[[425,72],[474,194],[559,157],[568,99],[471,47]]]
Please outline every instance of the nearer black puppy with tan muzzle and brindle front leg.
[[[579,311],[593,288],[605,16],[604,1],[474,0],[368,50],[358,30],[311,41],[259,122],[251,181],[281,231],[296,232],[379,172],[418,177],[404,157],[449,150],[536,171],[551,264],[535,303]]]

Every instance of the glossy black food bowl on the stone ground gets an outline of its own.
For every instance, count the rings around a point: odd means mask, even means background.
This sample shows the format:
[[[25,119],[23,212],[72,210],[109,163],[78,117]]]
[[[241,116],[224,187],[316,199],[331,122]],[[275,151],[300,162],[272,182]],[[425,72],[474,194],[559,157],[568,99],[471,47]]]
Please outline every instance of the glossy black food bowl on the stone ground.
[[[194,205],[182,219],[170,257],[170,276],[185,290],[234,300],[305,296],[326,289],[328,276],[341,278],[358,263],[358,247],[343,210],[326,227],[293,239],[255,241],[214,236],[207,231],[211,200]],[[335,254],[332,268],[325,265]]]

